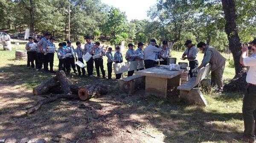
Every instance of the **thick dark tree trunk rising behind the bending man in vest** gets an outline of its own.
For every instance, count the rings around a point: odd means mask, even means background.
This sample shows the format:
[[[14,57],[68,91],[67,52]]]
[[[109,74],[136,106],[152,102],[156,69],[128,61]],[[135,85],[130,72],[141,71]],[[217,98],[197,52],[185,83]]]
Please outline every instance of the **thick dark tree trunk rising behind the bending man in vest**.
[[[238,31],[236,28],[236,6],[234,0],[221,0],[222,8],[224,11],[224,16],[226,20],[225,32],[227,34],[227,39],[229,42],[229,49],[233,54],[233,59],[235,63],[236,75],[239,73],[244,73],[242,65],[239,63],[241,55],[241,44],[240,38],[238,36]]]

